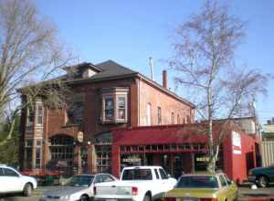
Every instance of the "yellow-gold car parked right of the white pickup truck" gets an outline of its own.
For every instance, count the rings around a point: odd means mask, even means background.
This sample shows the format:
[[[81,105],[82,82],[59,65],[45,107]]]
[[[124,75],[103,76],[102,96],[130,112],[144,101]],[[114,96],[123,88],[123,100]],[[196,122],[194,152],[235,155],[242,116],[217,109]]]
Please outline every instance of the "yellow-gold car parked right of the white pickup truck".
[[[237,185],[223,173],[182,175],[164,201],[232,201],[237,199]]]

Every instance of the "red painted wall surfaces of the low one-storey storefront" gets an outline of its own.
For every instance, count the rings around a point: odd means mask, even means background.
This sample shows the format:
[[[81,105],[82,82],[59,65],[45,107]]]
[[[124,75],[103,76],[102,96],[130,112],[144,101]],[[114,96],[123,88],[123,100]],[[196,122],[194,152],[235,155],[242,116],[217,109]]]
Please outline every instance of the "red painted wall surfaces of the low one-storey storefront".
[[[113,130],[113,145],[112,145],[112,174],[120,174],[120,151],[121,145],[133,144],[160,144],[160,143],[206,143],[205,135],[195,134],[194,129],[184,129],[185,127],[195,128],[196,124],[188,125],[173,125],[173,126],[150,126],[150,127],[135,127],[132,129]],[[231,132],[237,131],[240,133],[241,153],[233,153]],[[181,135],[181,136],[180,136]],[[248,178],[248,167],[253,168],[255,163],[255,143],[258,140],[245,132],[235,128],[227,130],[227,138],[223,143],[224,156],[224,171],[228,177],[236,182],[242,182]],[[247,156],[249,154],[249,156]],[[159,161],[155,160],[155,164]],[[254,163],[253,163],[254,162]],[[190,163],[189,163],[190,164]],[[185,167],[186,168],[186,167]],[[190,167],[187,167],[189,169]]]

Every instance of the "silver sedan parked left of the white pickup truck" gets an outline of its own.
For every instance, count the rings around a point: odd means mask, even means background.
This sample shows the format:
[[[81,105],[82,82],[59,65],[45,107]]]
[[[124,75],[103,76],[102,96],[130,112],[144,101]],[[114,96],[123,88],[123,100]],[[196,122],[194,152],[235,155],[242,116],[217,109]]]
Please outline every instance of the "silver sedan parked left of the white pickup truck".
[[[74,175],[64,186],[56,190],[46,191],[40,201],[68,200],[87,201],[93,196],[93,186],[98,183],[107,183],[117,180],[110,174]]]

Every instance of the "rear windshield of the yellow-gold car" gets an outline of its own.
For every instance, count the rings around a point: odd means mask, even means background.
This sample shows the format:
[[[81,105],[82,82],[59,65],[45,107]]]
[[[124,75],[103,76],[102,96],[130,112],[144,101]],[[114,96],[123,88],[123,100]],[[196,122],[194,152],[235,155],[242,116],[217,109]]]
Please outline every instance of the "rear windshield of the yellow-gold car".
[[[217,188],[218,183],[216,176],[190,175],[182,176],[177,185],[177,188]]]

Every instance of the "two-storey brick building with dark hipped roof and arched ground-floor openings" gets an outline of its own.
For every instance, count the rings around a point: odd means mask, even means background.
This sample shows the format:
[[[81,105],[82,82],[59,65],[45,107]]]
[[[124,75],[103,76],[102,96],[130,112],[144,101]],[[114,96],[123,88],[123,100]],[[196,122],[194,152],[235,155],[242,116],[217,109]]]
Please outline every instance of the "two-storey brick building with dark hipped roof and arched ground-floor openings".
[[[22,111],[23,170],[111,172],[111,129],[194,122],[194,105],[167,89],[166,71],[160,85],[111,60],[64,69],[68,106],[47,108],[37,98]]]

